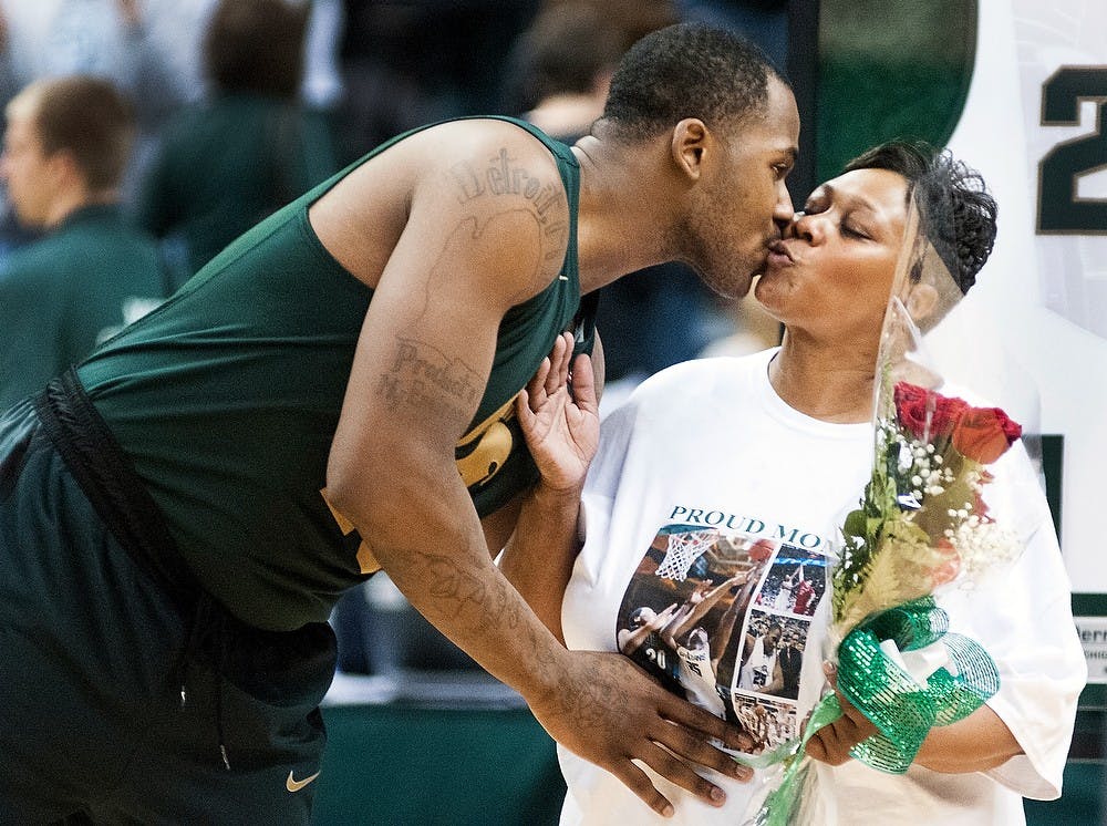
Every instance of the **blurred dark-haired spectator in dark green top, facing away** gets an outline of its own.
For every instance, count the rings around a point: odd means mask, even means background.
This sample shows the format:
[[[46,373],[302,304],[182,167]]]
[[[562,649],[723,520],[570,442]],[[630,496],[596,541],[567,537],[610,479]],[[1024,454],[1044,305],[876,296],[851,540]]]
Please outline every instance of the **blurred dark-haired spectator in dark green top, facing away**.
[[[288,0],[221,0],[211,16],[210,93],[166,127],[137,204],[175,283],[335,172],[324,118],[299,101],[308,12]]]

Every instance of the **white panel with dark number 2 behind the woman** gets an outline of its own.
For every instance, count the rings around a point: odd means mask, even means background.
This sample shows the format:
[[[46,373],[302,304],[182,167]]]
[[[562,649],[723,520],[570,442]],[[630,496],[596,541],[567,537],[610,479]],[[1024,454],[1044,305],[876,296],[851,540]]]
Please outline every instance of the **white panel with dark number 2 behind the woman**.
[[[1107,72],[1107,3],[980,7],[976,68],[949,146],[987,180],[1000,235],[933,347],[943,368],[964,371],[949,378],[993,395],[1032,430],[1064,434],[1063,553],[1074,590],[1105,592],[1107,235],[1037,235],[1035,225],[1039,161],[1061,142],[1096,133],[1098,106],[1107,105],[1085,101],[1078,126],[1043,125],[1042,86],[1061,66]],[[1077,195],[1107,199],[1107,172],[1080,176]]]

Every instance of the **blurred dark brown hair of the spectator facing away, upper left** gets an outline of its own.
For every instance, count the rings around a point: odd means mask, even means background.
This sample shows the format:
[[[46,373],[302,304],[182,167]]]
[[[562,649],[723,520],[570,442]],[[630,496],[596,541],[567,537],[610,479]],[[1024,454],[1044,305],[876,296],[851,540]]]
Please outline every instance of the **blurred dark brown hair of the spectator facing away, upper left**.
[[[204,38],[208,78],[223,92],[294,97],[310,3],[221,0]]]

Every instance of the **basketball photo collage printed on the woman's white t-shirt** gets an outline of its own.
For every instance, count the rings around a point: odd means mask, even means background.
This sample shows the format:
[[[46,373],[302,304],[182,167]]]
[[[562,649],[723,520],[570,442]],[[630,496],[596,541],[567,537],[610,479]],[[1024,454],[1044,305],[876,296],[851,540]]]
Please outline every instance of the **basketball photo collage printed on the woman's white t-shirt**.
[[[798,733],[807,631],[826,587],[817,551],[669,525],[627,587],[617,643],[666,688],[743,727],[758,754]]]

